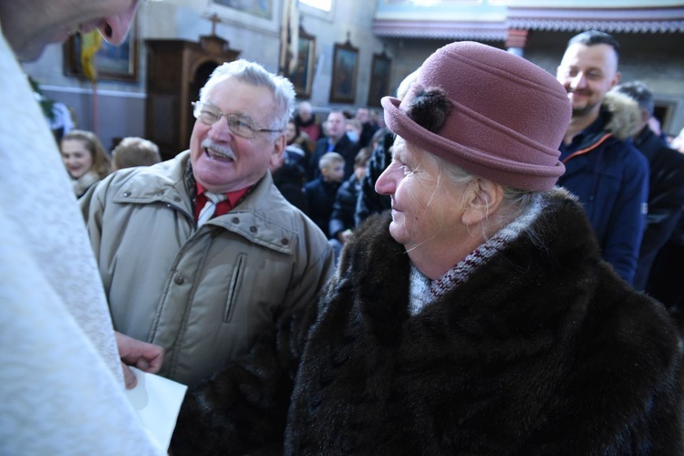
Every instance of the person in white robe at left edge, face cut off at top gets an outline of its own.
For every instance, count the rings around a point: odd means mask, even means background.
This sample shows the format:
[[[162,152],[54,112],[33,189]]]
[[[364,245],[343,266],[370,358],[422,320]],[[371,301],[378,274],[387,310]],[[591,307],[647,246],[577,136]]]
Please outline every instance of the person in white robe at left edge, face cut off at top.
[[[0,0],[0,454],[165,454],[124,396],[119,361],[154,371],[161,347],[115,336],[67,171],[19,63],[77,31],[119,44],[137,7]]]

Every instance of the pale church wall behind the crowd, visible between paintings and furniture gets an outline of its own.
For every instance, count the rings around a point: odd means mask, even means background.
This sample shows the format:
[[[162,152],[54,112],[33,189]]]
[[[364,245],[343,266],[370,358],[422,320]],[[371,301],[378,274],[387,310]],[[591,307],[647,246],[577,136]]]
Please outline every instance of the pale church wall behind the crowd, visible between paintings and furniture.
[[[201,2],[202,3],[202,2]],[[280,3],[280,2],[275,2]],[[202,3],[203,5],[203,3]],[[430,55],[445,45],[446,40],[378,38],[372,33],[374,5],[368,0],[334,2],[330,14],[315,13],[302,5],[301,25],[316,36],[316,72],[310,101],[319,111],[331,108],[356,109],[366,106],[370,68],[374,53],[386,50],[392,59],[389,88],[394,94],[400,81]],[[149,38],[181,38],[197,41],[209,35],[212,23],[202,17],[202,8],[175,6],[166,2],[146,2],[138,17],[139,36]],[[280,24],[276,30],[253,26],[236,26],[223,22],[216,34],[228,40],[230,47],[241,51],[241,57],[257,61],[276,72],[280,57]],[[356,99],[353,104],[329,102],[332,80],[332,59],[336,43],[347,41],[359,48]],[[572,36],[569,32],[531,31],[524,57],[554,73]],[[684,127],[684,39],[681,34],[616,34],[622,44],[620,68],[623,80],[644,81],[656,94],[658,103],[669,109],[665,130],[676,134]],[[503,41],[486,42],[504,47]],[[146,49],[140,41],[139,80],[137,82],[98,81],[98,96],[94,100],[88,81],[63,75],[62,47],[48,47],[38,61],[26,64],[26,72],[36,78],[49,98],[61,101],[77,117],[78,127],[97,130],[106,147],[112,140],[124,136],[144,135],[144,99]],[[97,116],[94,109],[97,106]]]

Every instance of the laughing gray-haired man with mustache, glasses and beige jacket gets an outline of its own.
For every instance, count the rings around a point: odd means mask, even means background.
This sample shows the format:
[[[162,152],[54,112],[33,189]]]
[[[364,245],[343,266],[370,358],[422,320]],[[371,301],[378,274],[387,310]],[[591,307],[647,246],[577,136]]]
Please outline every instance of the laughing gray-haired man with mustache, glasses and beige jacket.
[[[166,349],[161,375],[193,385],[312,306],[333,267],[326,237],[277,191],[295,91],[238,60],[194,103],[190,150],[121,170],[80,201],[120,332]]]

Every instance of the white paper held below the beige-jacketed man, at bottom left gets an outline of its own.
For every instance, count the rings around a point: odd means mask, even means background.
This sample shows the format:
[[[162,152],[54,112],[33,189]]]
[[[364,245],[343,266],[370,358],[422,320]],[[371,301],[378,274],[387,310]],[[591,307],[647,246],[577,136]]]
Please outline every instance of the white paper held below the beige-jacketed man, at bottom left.
[[[138,385],[127,389],[126,396],[150,435],[168,449],[188,387],[138,368],[131,367],[131,370],[138,378]]]

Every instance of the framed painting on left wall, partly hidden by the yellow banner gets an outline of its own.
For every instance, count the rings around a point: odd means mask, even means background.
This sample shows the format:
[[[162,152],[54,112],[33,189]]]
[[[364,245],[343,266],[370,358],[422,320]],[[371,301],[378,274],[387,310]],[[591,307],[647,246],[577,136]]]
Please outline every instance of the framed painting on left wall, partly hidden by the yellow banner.
[[[95,65],[98,69],[98,80],[136,82],[138,80],[138,29],[134,21],[130,26],[129,36],[120,46],[112,46],[102,40]],[[76,78],[85,78],[81,66],[81,36],[70,36],[64,44],[64,74]]]

